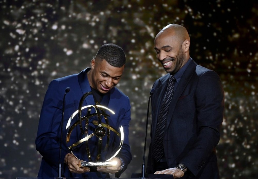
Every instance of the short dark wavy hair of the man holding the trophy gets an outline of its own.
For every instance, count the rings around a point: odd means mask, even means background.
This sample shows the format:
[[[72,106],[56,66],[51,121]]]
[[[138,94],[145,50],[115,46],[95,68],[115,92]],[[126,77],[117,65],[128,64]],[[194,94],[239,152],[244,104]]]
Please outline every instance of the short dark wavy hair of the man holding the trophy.
[[[125,53],[116,44],[104,44],[99,48],[95,59],[100,61],[105,59],[111,66],[120,68],[125,64]]]

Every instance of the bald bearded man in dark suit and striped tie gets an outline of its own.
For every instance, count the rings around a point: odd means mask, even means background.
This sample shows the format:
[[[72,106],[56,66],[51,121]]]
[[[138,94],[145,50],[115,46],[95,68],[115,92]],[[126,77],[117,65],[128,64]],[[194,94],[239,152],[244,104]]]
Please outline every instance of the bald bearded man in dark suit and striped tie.
[[[153,85],[147,173],[219,178],[215,147],[224,111],[219,75],[193,61],[190,37],[181,25],[167,25],[154,43],[167,74]]]

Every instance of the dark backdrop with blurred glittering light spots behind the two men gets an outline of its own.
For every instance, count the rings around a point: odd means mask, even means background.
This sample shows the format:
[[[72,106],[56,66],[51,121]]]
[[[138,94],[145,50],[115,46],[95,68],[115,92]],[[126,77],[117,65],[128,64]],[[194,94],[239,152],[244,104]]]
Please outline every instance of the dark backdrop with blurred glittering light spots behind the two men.
[[[149,91],[165,74],[154,37],[169,23],[188,29],[191,57],[223,82],[225,113],[217,146],[221,178],[257,178],[257,4],[0,0],[0,178],[37,176],[41,155],[34,141],[49,82],[89,67],[104,43],[121,46],[127,58],[118,88],[131,100],[133,160],[121,177],[140,173]]]

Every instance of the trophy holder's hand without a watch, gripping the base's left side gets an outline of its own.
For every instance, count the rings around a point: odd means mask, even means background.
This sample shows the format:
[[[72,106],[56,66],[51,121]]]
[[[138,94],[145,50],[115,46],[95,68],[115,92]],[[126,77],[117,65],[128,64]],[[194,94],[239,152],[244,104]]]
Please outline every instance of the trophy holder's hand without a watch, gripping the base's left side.
[[[90,172],[89,167],[83,167],[80,168],[79,164],[82,160],[78,160],[74,155],[72,154],[66,154],[65,156],[65,163],[68,166],[70,172],[72,173],[85,173]]]

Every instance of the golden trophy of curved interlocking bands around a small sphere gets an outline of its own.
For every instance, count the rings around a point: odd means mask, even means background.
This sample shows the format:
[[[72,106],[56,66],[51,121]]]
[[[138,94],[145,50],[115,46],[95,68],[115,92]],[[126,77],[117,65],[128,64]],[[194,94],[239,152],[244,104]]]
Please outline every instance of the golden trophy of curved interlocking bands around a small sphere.
[[[93,93],[92,91],[86,92],[82,96],[82,98],[80,99],[80,102],[79,102],[78,110],[76,110],[71,115],[71,117],[69,118],[69,120],[67,122],[66,129],[68,131],[67,131],[67,135],[66,135],[66,143],[68,143],[70,141],[70,135],[72,133],[72,130],[77,125],[79,125],[79,127],[80,127],[81,134],[85,135],[84,138],[76,141],[70,147],[68,147],[68,150],[71,152],[71,154],[73,154],[75,156],[75,154],[72,152],[73,149],[76,148],[76,146],[78,146],[79,144],[85,142],[85,146],[86,146],[85,150],[86,150],[86,154],[88,156],[88,161],[81,161],[79,167],[114,166],[114,165],[116,165],[116,163],[111,162],[110,160],[112,158],[114,158],[118,154],[120,149],[122,148],[123,141],[124,141],[123,127],[120,126],[120,128],[119,128],[120,131],[117,131],[114,127],[110,126],[109,121],[108,121],[108,117],[110,117],[110,115],[107,114],[105,112],[105,110],[108,110],[112,114],[115,114],[115,113],[111,109],[100,105],[97,101],[95,102],[94,105],[82,106],[84,99],[88,95],[92,95],[92,93]],[[94,112],[92,112],[93,108],[95,109]],[[82,116],[82,110],[86,111],[85,116]],[[77,114],[78,114],[78,120],[73,120]],[[90,122],[89,119],[93,116],[96,116],[97,120]],[[105,123],[102,123],[101,116],[104,117]],[[74,122],[72,123],[72,121],[74,121]],[[85,129],[83,129],[83,126],[82,126],[82,122],[84,122],[84,121],[85,121]],[[88,130],[88,126],[90,123],[92,123],[94,126],[96,126],[94,132],[91,134],[89,134],[89,130]],[[116,149],[116,152],[113,156],[111,156],[106,161],[100,161],[101,152],[107,150],[109,147],[110,131],[114,132],[120,138],[120,144],[119,144],[118,148]],[[107,141],[106,141],[104,149],[102,149],[103,148],[102,147],[102,139],[105,136],[107,136]],[[91,145],[90,140],[93,138],[98,138],[97,154],[96,154],[95,161],[92,160],[91,151],[89,148],[89,146]],[[79,158],[77,158],[77,159],[79,159]],[[85,159],[79,159],[79,160],[85,160]]]

